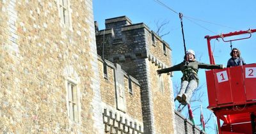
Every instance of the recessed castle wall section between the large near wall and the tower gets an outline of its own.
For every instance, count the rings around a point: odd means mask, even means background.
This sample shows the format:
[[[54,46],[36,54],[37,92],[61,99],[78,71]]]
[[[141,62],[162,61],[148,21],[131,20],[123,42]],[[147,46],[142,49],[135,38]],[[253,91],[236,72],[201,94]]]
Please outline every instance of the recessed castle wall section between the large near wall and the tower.
[[[106,64],[107,73],[104,73],[104,64]],[[124,77],[116,77],[116,73],[121,73]],[[100,57],[99,74],[105,133],[143,133],[141,91],[138,80],[124,71],[118,71],[117,64],[103,61]],[[116,87],[118,84],[116,79],[120,78],[124,78],[124,85],[121,86],[123,88]],[[131,88],[129,81],[131,81]],[[118,100],[120,94],[124,95],[122,98],[125,98],[125,103],[119,102],[122,101]],[[125,110],[118,110],[118,103],[122,103]]]

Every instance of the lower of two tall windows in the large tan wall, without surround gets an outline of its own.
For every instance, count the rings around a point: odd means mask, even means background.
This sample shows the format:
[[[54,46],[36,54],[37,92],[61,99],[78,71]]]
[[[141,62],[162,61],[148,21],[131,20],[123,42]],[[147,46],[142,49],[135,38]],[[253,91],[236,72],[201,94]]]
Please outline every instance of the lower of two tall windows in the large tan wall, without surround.
[[[73,82],[67,82],[67,97],[68,97],[68,115],[71,121],[79,122],[77,86]]]

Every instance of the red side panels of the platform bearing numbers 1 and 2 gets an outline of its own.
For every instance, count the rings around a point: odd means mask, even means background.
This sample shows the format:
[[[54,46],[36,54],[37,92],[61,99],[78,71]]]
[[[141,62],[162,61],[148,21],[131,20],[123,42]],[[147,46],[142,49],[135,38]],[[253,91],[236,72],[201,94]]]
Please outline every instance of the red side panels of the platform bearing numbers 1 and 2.
[[[256,63],[205,73],[208,108],[256,103]]]

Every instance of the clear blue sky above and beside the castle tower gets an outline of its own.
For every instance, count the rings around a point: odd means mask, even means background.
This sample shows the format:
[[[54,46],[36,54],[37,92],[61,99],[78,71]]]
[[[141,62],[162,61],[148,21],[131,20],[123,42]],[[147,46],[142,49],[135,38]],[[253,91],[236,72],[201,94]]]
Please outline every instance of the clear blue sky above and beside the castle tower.
[[[256,29],[256,1],[255,0],[159,0],[166,4],[177,13],[181,12],[184,15],[184,36],[186,40],[186,47],[195,50],[196,57],[200,57],[203,63],[209,63],[209,56],[207,53],[207,41],[204,36],[216,35],[220,33],[230,33],[240,30]],[[172,48],[173,64],[180,63],[184,56],[184,47],[182,40],[182,33],[180,29],[179,15],[174,13],[155,0],[93,0],[94,19],[99,23],[99,29],[104,29],[105,19],[127,16],[132,20],[133,24],[143,22],[151,30],[156,31],[156,22],[169,22],[164,27],[165,31],[170,31],[170,34],[163,36]],[[189,18],[188,18],[189,17]],[[192,18],[192,19],[191,19]],[[202,20],[202,21],[201,21]],[[227,40],[234,38],[241,38],[243,36],[234,36],[227,38]],[[214,56],[216,64],[224,64],[226,66],[227,60],[230,58],[230,43],[223,43],[223,41],[211,41],[212,49],[214,48]],[[241,56],[246,63],[255,63],[253,52],[256,50],[256,33],[248,40],[233,41],[233,47],[241,50]],[[205,70],[200,70],[198,73],[200,77],[200,84],[205,84]],[[175,72],[173,84],[180,82],[181,73]],[[205,118],[211,112],[206,109],[207,103],[207,89],[204,86],[201,89],[205,93],[202,101],[204,103],[191,104],[191,107],[198,107],[203,105]],[[200,124],[200,110],[194,112],[196,124]],[[213,123],[209,123],[213,127]],[[207,133],[214,133],[214,130],[207,129]]]

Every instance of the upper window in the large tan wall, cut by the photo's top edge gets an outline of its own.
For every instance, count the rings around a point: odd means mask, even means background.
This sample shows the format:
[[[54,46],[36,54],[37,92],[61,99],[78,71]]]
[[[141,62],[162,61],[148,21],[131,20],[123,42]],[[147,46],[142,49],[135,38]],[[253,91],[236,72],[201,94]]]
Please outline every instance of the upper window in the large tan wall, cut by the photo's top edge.
[[[59,0],[58,1],[58,9],[61,24],[65,26],[71,26],[71,13],[70,13],[70,3],[69,0]]]

